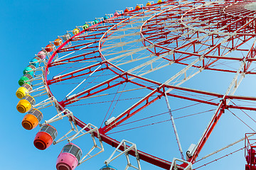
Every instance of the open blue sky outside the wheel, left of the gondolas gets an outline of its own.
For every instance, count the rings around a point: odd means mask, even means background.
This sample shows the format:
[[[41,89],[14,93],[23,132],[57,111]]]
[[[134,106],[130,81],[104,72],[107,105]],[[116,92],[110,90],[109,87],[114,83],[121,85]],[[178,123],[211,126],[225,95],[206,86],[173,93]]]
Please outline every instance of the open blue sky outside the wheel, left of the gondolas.
[[[141,3],[146,4],[147,1]],[[24,130],[23,114],[16,111],[18,79],[28,62],[50,40],[73,30],[85,21],[136,6],[137,1],[1,1],[1,169],[55,169],[55,161],[63,145],[40,151],[33,146],[39,130]],[[107,157],[105,157],[107,159]],[[124,158],[125,159],[125,158]],[[103,162],[87,164],[90,169],[100,169]],[[80,169],[85,169],[85,167]]]

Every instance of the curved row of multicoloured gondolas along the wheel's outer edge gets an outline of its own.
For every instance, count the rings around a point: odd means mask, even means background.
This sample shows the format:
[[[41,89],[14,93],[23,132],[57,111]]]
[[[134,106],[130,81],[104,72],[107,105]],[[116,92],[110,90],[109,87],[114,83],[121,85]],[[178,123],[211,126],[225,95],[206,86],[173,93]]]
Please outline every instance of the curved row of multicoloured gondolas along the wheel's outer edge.
[[[161,3],[161,0],[159,0],[158,3]],[[148,2],[146,6],[151,6],[151,3]],[[135,10],[139,10],[140,8],[141,6],[137,5],[135,7]],[[129,9],[126,8],[124,10],[124,13],[128,12]],[[118,15],[118,12],[115,12],[113,14],[113,16]],[[106,15],[103,17],[103,20],[107,19],[109,19],[109,16]],[[91,22],[92,26],[98,23],[100,23],[100,21],[98,21],[97,19]],[[85,23],[83,26],[81,26],[83,30],[89,27],[90,25],[88,23]],[[76,35],[80,33],[80,28],[77,27],[72,32],[74,35]],[[29,62],[29,65],[25,69],[23,69],[23,76],[21,77],[21,79],[18,80],[18,84],[20,87],[16,91],[16,96],[21,100],[18,101],[16,108],[18,112],[26,113],[21,122],[21,125],[26,130],[32,130],[36,128],[41,120],[43,120],[43,114],[35,107],[36,100],[33,96],[31,96],[31,93],[34,92],[31,82],[38,79],[41,79],[43,81],[43,74],[36,76],[36,72],[38,70],[43,71],[42,68],[45,66],[48,56],[50,56],[50,52],[53,52],[55,50],[55,47],[62,45],[62,43],[68,40],[70,37],[70,33],[66,33],[65,35],[55,39],[53,42],[50,42],[50,44],[46,45],[43,50],[38,52],[36,57],[33,57],[33,59]],[[39,132],[36,134],[33,144],[37,149],[44,150],[53,144],[53,141],[56,137],[57,130],[52,125],[46,124],[43,125],[41,127],[41,130],[39,130]],[[81,157],[82,151],[80,147],[74,145],[73,143],[68,143],[68,145],[65,145],[63,147],[63,150],[58,156],[56,168],[58,170],[73,170],[76,168],[76,166],[78,166]],[[115,170],[115,168],[110,165],[103,166],[101,169]]]

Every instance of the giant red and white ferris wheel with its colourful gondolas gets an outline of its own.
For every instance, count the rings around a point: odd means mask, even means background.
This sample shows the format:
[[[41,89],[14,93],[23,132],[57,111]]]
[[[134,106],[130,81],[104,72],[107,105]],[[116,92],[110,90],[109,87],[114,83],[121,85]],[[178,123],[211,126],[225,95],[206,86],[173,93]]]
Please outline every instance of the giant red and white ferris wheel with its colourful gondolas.
[[[37,149],[63,145],[58,170],[106,151],[102,170],[119,157],[119,169],[203,169],[235,154],[256,169],[255,35],[256,1],[149,1],[95,18],[23,70],[22,126],[40,125]]]

